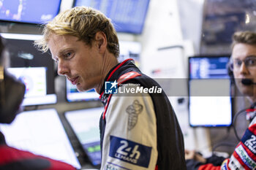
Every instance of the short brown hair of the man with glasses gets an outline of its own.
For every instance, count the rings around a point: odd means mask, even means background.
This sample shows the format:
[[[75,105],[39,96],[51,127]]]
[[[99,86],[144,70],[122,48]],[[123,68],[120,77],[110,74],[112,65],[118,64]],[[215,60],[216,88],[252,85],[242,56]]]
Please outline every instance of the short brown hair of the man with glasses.
[[[238,43],[256,45],[256,33],[252,31],[238,31],[234,33],[231,49]]]

